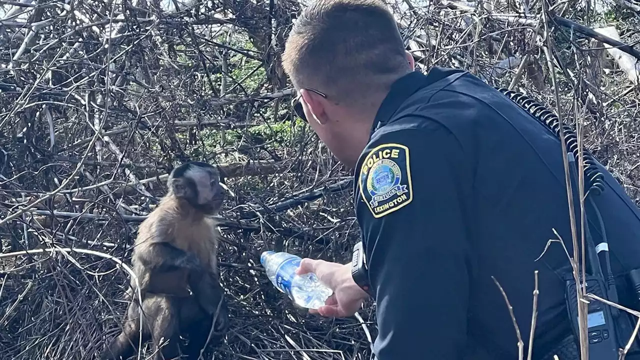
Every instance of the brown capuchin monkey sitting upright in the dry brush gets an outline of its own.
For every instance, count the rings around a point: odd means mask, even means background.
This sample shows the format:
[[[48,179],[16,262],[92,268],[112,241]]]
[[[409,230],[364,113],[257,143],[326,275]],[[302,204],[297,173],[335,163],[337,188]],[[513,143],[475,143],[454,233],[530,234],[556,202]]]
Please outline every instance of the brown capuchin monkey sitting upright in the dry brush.
[[[184,163],[173,169],[167,186],[168,193],[140,224],[132,254],[142,327],[132,277],[123,331],[102,352],[102,360],[134,355],[140,334],[142,344],[154,343],[156,360],[176,359],[180,352],[196,360],[207,340],[218,343],[227,333],[227,304],[218,272],[221,234],[209,217],[224,199],[220,173],[207,163]],[[188,338],[184,347],[181,335]]]

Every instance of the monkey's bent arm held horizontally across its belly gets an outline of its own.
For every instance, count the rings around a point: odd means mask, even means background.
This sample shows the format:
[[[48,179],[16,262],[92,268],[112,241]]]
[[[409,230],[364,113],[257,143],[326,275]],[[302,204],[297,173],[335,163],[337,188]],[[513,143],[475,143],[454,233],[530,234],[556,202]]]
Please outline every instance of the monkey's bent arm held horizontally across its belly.
[[[166,241],[145,244],[145,249],[137,252],[141,265],[157,271],[171,271],[188,268],[202,271],[202,265],[195,255],[178,249]]]

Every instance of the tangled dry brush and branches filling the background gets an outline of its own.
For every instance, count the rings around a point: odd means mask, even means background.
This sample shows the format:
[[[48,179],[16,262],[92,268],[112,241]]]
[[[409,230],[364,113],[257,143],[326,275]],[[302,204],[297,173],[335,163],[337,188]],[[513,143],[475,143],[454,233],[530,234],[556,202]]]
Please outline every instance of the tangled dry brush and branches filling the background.
[[[555,111],[557,90],[637,200],[637,52],[610,45],[637,41],[638,8],[595,4],[390,6],[422,69],[462,67]],[[374,304],[309,316],[259,265],[266,249],[344,262],[358,240],[348,170],[291,114],[279,55],[303,5],[0,0],[0,359],[97,357],[127,305],[117,260],[188,160],[219,164],[235,195],[220,215],[232,328],[207,358],[371,358]]]

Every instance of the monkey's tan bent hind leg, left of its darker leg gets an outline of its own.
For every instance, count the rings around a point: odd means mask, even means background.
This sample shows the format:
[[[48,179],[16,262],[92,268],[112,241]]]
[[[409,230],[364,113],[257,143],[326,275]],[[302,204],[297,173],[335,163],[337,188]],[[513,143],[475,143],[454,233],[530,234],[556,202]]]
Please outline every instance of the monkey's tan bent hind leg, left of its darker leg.
[[[155,296],[146,299],[143,308],[153,318],[151,333],[154,359],[172,360],[180,355],[179,309],[170,297]]]

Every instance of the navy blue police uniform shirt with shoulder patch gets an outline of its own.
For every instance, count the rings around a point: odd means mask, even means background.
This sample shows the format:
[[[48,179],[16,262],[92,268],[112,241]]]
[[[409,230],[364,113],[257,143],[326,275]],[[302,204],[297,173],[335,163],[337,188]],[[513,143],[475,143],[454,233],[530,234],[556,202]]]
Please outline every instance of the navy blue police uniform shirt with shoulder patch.
[[[640,267],[640,213],[601,171],[595,200],[619,275]],[[355,179],[378,360],[517,359],[495,281],[526,349],[536,270],[534,359],[570,334],[567,256],[557,242],[541,256],[554,229],[573,254],[561,142],[508,97],[462,70],[407,74],[378,110]]]

